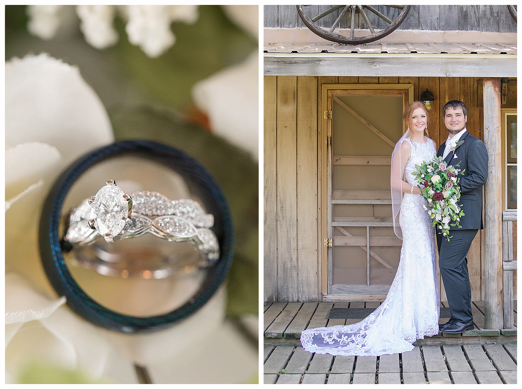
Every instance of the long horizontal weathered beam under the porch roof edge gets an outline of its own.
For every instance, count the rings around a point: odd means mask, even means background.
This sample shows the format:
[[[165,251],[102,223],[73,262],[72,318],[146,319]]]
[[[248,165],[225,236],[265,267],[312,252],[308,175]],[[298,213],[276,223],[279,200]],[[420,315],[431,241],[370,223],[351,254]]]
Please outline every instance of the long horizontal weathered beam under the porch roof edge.
[[[265,76],[516,77],[515,55],[265,54]]]

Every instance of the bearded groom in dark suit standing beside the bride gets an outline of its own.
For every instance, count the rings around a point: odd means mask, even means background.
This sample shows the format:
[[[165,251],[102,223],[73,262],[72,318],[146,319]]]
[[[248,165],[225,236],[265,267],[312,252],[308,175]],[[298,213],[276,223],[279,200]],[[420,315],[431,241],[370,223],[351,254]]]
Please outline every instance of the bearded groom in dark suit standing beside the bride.
[[[468,274],[469,247],[478,230],[482,230],[482,185],[488,176],[488,150],[484,143],[466,131],[467,108],[458,100],[447,102],[442,109],[444,124],[449,132],[446,143],[438,149],[446,165],[459,165],[459,205],[465,216],[460,226],[450,227],[450,239],[443,239],[437,230],[438,265],[446,289],[451,319],[439,324],[442,332],[459,334],[473,328],[471,288]]]

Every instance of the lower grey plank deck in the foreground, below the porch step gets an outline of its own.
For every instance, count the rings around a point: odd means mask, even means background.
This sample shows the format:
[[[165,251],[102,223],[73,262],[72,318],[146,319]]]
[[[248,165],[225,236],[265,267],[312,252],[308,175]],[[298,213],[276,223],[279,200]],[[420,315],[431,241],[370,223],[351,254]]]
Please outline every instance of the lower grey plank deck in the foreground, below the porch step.
[[[516,384],[516,344],[415,346],[402,354],[343,357],[265,346],[265,384]]]

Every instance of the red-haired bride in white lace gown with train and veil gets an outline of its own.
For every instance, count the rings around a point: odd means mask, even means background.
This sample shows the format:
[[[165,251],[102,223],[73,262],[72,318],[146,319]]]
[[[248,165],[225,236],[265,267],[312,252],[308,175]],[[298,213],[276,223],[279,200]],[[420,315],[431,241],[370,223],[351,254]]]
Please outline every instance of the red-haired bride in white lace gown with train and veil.
[[[408,130],[392,153],[391,187],[395,234],[402,239],[397,274],[384,302],[359,323],[305,330],[306,351],[332,355],[404,353],[412,343],[438,333],[438,283],[435,265],[435,230],[423,208],[425,200],[411,174],[415,165],[436,155],[428,136],[428,110],[410,103],[403,119]]]

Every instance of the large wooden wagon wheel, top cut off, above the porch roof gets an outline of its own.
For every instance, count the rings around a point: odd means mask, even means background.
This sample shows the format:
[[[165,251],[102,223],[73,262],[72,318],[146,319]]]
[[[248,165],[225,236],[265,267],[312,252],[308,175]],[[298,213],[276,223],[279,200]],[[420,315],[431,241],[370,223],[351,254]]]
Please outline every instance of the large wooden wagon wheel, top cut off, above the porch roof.
[[[410,10],[409,5],[384,5],[383,7],[387,8],[397,8],[400,9],[401,12],[399,16],[395,20],[389,19],[386,15],[379,12],[377,9],[375,9],[371,5],[335,5],[326,11],[324,11],[322,14],[319,14],[313,18],[310,18],[308,15],[306,15],[306,11],[304,10],[303,5],[298,5],[297,11],[299,13],[299,16],[306,27],[308,27],[310,30],[312,30],[313,33],[316,35],[319,35],[323,37],[324,39],[327,39],[328,41],[343,43],[343,44],[349,44],[349,45],[358,45],[362,43],[370,43],[373,41],[376,41],[378,39],[381,39],[382,37],[391,34],[397,27],[400,26],[400,23],[406,18],[408,15],[408,11]],[[335,20],[333,26],[331,26],[329,29],[324,27],[319,27],[317,24],[315,24],[316,21],[319,19],[324,18],[325,16],[331,14],[331,12],[334,12],[338,9],[342,8],[341,13]],[[379,18],[384,20],[386,23],[388,23],[388,26],[384,29],[377,30],[374,29],[372,24],[370,23],[366,13],[365,9],[367,11],[373,12],[375,15],[377,15]],[[364,20],[364,23],[366,26],[370,29],[370,34],[365,36],[355,36],[354,30],[355,30],[355,15],[360,14]],[[347,20],[350,24],[350,36],[343,36],[339,34],[335,34],[334,31],[337,27],[339,27],[339,24],[342,20]]]

